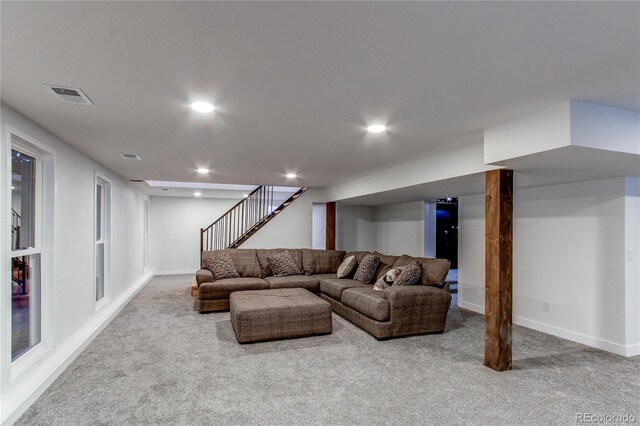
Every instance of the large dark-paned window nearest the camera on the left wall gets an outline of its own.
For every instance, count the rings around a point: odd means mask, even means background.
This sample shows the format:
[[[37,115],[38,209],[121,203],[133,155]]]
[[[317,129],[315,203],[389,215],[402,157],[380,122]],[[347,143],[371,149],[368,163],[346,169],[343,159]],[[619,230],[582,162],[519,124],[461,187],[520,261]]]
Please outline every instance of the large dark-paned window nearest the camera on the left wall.
[[[42,161],[11,139],[11,360],[41,341]]]

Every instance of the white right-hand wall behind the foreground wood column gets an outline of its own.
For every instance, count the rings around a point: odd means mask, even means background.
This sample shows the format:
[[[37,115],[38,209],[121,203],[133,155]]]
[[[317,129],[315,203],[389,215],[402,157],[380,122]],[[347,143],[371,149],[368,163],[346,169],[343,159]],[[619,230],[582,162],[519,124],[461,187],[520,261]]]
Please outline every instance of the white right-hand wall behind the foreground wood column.
[[[640,304],[637,275],[625,272],[638,270],[637,257],[625,265],[625,244],[637,246],[625,229],[634,197],[625,206],[625,178],[515,190],[514,323],[629,354],[626,315]],[[459,305],[484,312],[484,194],[459,199],[459,247]]]

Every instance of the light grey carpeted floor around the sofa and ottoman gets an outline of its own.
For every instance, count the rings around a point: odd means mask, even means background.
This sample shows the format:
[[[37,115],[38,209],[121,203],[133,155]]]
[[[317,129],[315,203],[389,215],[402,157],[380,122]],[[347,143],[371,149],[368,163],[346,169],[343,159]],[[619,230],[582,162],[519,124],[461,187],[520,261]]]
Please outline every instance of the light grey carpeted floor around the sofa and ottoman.
[[[384,342],[334,315],[328,336],[239,345],[189,276],[154,278],[20,418],[22,425],[567,424],[635,415],[640,357],[522,327],[513,371],[483,367],[481,315]]]

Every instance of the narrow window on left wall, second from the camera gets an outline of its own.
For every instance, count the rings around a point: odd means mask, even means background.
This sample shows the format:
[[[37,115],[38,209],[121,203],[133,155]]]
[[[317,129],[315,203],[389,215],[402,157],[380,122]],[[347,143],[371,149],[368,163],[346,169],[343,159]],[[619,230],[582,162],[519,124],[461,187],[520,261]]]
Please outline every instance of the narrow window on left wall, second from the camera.
[[[96,178],[96,302],[106,295],[109,279],[109,219],[111,185],[106,180]]]

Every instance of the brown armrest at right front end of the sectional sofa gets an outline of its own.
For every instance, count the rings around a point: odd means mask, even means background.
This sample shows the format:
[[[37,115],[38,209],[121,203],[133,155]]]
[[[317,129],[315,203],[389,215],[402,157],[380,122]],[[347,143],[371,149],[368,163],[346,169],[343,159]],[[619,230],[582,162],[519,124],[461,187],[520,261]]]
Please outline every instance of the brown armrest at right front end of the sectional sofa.
[[[384,290],[389,301],[394,336],[442,332],[451,306],[451,295],[426,285],[397,286]]]

